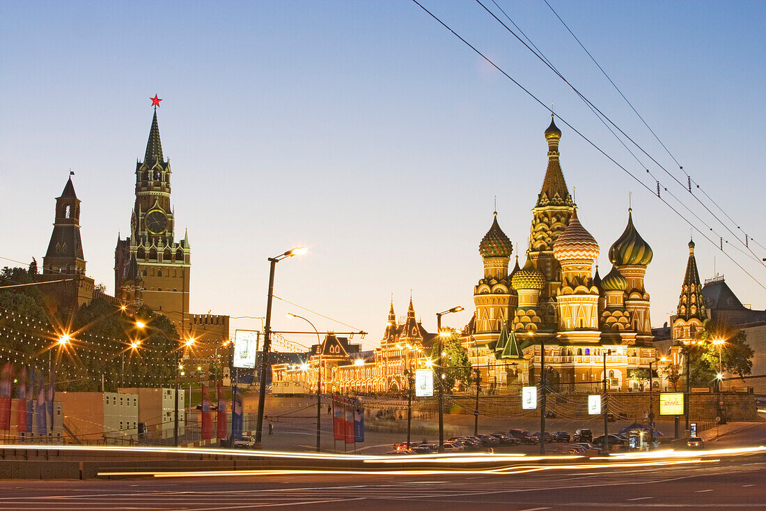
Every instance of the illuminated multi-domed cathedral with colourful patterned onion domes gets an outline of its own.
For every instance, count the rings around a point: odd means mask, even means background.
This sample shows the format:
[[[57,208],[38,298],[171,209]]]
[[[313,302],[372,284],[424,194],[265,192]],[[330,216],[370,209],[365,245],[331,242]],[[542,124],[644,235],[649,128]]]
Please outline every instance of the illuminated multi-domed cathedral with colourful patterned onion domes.
[[[526,262],[520,267],[517,257],[508,271],[512,244],[495,213],[479,246],[484,276],[474,287],[476,313],[463,345],[483,382],[498,391],[539,381],[542,345],[546,380],[562,391],[600,386],[609,350],[608,387],[637,389],[630,371],[647,369],[656,358],[643,284],[652,249],[629,209],[627,226],[608,252],[611,271],[603,279],[597,267],[594,272],[600,247],[568,192],[559,162],[561,130],[553,120],[545,140],[548,168],[532,208]]]

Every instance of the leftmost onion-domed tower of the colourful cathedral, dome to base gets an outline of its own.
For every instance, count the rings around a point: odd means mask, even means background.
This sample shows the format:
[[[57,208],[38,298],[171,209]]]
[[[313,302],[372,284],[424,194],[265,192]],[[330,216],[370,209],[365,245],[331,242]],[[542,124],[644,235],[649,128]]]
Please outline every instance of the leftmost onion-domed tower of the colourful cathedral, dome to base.
[[[492,226],[479,244],[484,263],[484,278],[473,288],[476,305],[476,334],[478,345],[497,341],[500,331],[508,325],[516,309],[516,292],[511,287],[508,263],[513,251],[511,240],[502,232],[494,213]],[[517,263],[518,264],[518,263]]]

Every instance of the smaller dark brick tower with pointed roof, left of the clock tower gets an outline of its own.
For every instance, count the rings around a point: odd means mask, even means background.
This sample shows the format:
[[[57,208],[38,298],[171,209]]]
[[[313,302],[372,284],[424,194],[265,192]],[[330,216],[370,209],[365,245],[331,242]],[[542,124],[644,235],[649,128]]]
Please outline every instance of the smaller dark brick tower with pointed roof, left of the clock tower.
[[[83,242],[80,239],[80,199],[70,176],[61,196],[56,198],[56,215],[51,241],[43,258],[43,274],[85,274]]]

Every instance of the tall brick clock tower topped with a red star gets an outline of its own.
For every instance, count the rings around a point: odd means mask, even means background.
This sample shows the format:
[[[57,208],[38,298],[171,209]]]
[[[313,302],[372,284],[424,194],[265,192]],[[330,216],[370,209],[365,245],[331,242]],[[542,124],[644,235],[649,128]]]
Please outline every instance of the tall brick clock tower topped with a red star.
[[[130,236],[117,238],[115,295],[133,291],[142,280],[142,302],[178,323],[188,314],[191,248],[188,234],[175,239],[175,215],[170,202],[170,160],[162,156],[155,104],[144,160],[136,162],[136,201],[130,216]],[[134,262],[133,262],[134,261]],[[126,289],[131,287],[131,289]]]

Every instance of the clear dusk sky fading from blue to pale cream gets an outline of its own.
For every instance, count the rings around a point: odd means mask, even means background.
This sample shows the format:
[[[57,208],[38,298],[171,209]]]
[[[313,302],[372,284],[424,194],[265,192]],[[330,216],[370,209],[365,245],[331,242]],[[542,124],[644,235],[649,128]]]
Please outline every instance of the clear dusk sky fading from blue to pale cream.
[[[496,2],[686,184],[545,2]],[[696,196],[738,239],[747,232],[766,246],[758,129],[766,4],[548,2],[725,213],[695,188]],[[653,325],[676,308],[690,228],[656,197],[647,168],[667,187],[661,196],[702,232],[694,233],[700,278],[725,275],[742,302],[766,308],[763,246],[745,248],[649,157],[634,150],[641,163],[633,159],[481,5],[422,3],[653,190],[558,122],[561,166],[581,223],[601,246],[602,275],[632,193],[634,223],[654,252],[646,279]],[[129,230],[154,94],[163,99],[175,234],[188,228],[191,242],[191,312],[240,318],[232,334],[261,328],[241,317],[264,316],[267,258],[294,246],[309,252],[277,265],[275,295],[319,315],[275,300],[275,330],[306,328],[286,317],[294,312],[319,331],[368,331],[362,344],[374,348],[391,296],[404,315],[410,293],[430,331],[435,314],[455,305],[466,312],[444,324],[462,327],[483,276],[478,243],[495,196],[523,264],[547,163],[548,110],[414,2],[0,0],[0,265],[41,262],[54,197],[71,169],[87,274],[113,292],[114,247]],[[719,236],[752,277],[719,249]]]

